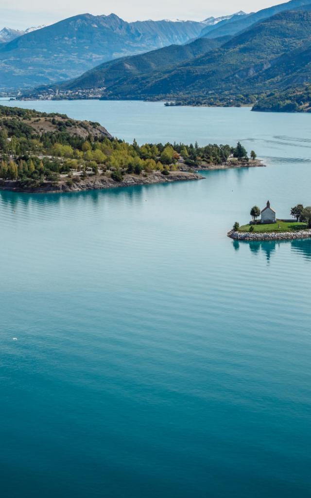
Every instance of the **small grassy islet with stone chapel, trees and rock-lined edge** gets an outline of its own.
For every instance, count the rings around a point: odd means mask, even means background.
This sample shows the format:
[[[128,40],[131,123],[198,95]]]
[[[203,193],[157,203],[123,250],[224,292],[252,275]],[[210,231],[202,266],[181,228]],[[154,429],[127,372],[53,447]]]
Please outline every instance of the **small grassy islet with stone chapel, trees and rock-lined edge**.
[[[311,238],[311,207],[298,204],[291,209],[293,220],[279,220],[270,202],[260,210],[253,206],[250,210],[252,221],[240,226],[235,222],[228,237],[238,241],[270,241]],[[259,221],[257,218],[261,217]]]

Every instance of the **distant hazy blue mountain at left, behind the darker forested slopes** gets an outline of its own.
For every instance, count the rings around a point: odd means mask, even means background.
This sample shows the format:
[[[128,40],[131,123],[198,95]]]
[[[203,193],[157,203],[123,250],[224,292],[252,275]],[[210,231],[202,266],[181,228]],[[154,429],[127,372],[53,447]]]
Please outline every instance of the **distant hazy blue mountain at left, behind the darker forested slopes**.
[[[81,14],[0,46],[0,88],[68,80],[118,57],[186,43],[204,24],[195,21],[125,22],[115,14]]]

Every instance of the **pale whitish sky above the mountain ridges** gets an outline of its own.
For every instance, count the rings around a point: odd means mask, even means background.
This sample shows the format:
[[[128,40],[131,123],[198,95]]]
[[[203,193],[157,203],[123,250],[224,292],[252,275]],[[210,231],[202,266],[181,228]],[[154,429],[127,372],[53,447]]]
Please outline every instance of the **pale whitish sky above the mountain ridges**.
[[[210,15],[231,14],[238,10],[255,12],[284,1],[286,0],[0,0],[0,29],[3,26],[25,29],[53,24],[85,12],[94,15],[113,12],[126,21],[176,18],[199,21]]]

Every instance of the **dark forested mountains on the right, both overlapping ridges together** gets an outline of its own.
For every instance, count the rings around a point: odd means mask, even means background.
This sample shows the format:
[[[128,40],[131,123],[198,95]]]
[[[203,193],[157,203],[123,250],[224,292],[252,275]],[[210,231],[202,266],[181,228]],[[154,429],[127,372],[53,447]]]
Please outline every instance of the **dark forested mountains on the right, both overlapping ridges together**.
[[[248,23],[251,17],[255,22],[236,35],[200,37],[184,46],[109,61],[60,87],[105,87],[104,98],[112,99],[170,99],[261,94],[301,85],[311,79],[310,9],[311,0],[292,0],[247,15]],[[220,33],[222,23],[217,24]]]

